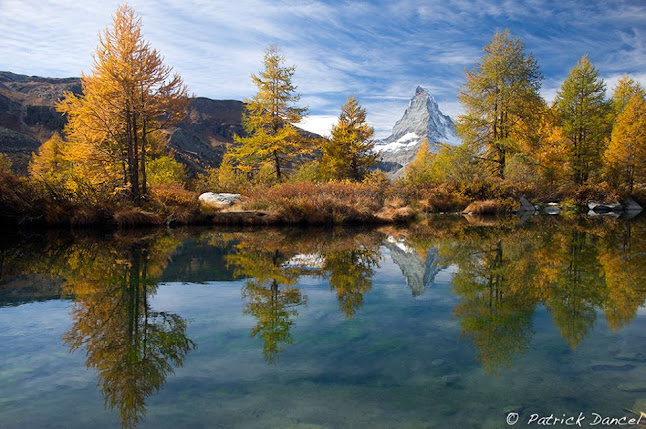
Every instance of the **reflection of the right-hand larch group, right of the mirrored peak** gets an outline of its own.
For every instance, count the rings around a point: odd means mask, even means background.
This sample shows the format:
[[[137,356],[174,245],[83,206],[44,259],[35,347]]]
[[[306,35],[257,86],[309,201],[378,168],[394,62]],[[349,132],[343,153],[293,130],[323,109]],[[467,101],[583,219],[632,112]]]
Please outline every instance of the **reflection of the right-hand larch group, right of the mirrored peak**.
[[[531,341],[532,315],[543,304],[561,336],[576,347],[603,310],[614,330],[646,298],[643,223],[613,219],[429,222],[406,231],[407,243],[439,249],[455,265],[455,315],[483,367],[511,365]],[[447,222],[449,223],[447,225]]]

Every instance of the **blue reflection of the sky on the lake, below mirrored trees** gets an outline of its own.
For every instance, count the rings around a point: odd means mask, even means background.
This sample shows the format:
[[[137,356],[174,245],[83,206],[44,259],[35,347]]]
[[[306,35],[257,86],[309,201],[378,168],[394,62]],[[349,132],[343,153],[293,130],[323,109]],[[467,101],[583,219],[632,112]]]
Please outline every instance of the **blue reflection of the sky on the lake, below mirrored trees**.
[[[550,314],[539,306],[525,354],[497,377],[485,375],[468,338],[460,336],[451,293],[454,268],[413,298],[387,254],[372,290],[353,319],[338,309],[336,293],[316,277],[299,281],[307,305],[297,308],[293,344],[277,365],[262,357],[262,340],[243,314],[244,281],[161,284],[154,310],[179,314],[198,348],[162,390],[148,398],[142,427],[286,427],[294,422],[328,426],[398,427],[439,422],[468,427],[502,422],[502,411],[522,405],[532,412],[621,413],[635,394],[621,383],[644,379],[646,366],[630,372],[591,372],[617,353],[643,352],[646,318],[637,316],[611,334],[601,314],[572,351]],[[0,421],[15,427],[112,427],[96,373],[84,353],[69,354],[62,334],[71,327],[69,301],[0,308]],[[459,375],[457,386],[442,377]],[[73,411],[71,411],[73,410]],[[503,417],[501,417],[503,415]],[[500,426],[500,425],[497,425]],[[494,426],[494,427],[497,427]],[[4,427],[4,426],[3,426]],[[12,427],[11,423],[7,427]]]

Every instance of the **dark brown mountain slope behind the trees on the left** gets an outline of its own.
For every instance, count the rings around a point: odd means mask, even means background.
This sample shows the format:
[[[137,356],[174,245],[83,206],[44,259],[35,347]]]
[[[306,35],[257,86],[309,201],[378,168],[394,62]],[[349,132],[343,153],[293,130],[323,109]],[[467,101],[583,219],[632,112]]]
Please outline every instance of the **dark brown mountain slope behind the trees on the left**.
[[[26,174],[31,154],[55,131],[61,132],[65,119],[55,103],[63,93],[80,93],[78,78],[42,78],[0,72],[0,152],[9,156],[14,169]],[[175,158],[188,168],[189,176],[207,167],[220,165],[235,134],[244,135],[238,100],[193,98],[186,117],[176,127],[166,130],[169,148]],[[305,137],[319,137],[302,131]]]

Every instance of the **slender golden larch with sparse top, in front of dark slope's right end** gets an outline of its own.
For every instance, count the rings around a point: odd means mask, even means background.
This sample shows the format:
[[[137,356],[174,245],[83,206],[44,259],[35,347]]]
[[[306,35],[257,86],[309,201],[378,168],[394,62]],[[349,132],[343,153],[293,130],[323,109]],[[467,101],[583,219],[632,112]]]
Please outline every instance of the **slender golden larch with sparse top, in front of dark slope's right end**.
[[[294,126],[307,111],[293,105],[300,99],[292,83],[296,68],[284,63],[278,47],[270,45],[265,52],[265,69],[252,75],[258,92],[245,100],[242,124],[247,136],[235,136],[236,145],[230,149],[231,159],[240,170],[255,173],[271,163],[278,180],[285,167],[311,152],[310,142]]]

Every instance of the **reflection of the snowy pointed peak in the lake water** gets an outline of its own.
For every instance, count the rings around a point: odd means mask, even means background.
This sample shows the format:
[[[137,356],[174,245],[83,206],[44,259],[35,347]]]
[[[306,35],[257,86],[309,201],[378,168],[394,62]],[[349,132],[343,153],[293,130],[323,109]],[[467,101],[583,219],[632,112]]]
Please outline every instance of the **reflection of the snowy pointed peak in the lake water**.
[[[388,237],[385,243],[393,262],[402,270],[406,285],[413,296],[418,296],[424,289],[430,288],[437,273],[443,268],[439,264],[437,249],[429,248],[422,261],[417,250],[404,241]]]

